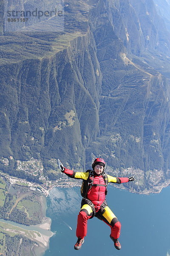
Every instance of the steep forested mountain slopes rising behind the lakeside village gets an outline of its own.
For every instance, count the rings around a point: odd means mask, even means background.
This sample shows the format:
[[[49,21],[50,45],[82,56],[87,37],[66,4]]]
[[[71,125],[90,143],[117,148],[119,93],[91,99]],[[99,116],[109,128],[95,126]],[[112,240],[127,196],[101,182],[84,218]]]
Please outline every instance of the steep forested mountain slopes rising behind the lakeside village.
[[[101,156],[108,171],[137,177],[136,192],[169,184],[168,3],[46,1],[44,12],[42,2],[20,0],[14,9],[0,1],[3,172],[54,180],[57,158],[85,170]],[[56,5],[61,20],[49,17]],[[42,20],[7,24],[12,10],[36,8]],[[35,177],[28,163],[36,161]]]

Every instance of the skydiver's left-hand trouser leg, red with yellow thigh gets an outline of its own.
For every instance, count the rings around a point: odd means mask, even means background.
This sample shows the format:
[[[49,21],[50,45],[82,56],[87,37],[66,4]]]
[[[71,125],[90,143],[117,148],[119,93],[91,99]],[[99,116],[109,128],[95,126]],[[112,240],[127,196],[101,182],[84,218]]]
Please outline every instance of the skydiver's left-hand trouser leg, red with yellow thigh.
[[[81,239],[84,238],[87,234],[88,219],[92,216],[93,211],[89,210],[89,207],[90,206],[87,204],[83,205],[77,218],[76,236],[80,237]]]

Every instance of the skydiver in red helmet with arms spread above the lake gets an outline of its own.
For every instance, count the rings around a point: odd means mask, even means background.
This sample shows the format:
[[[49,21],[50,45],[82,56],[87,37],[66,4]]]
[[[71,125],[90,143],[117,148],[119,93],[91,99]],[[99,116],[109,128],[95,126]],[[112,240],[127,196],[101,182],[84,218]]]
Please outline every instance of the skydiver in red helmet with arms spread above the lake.
[[[104,221],[111,227],[110,238],[114,242],[117,250],[121,249],[118,241],[120,236],[121,224],[117,217],[108,207],[105,196],[107,195],[107,185],[112,183],[125,183],[135,180],[134,177],[113,177],[105,174],[105,161],[102,158],[96,158],[92,164],[93,170],[86,172],[74,172],[65,168],[60,162],[60,169],[68,177],[82,179],[81,194],[83,196],[81,209],[77,219],[77,242],[74,245],[75,250],[79,250],[84,243],[84,237],[87,234],[88,219],[94,216]]]

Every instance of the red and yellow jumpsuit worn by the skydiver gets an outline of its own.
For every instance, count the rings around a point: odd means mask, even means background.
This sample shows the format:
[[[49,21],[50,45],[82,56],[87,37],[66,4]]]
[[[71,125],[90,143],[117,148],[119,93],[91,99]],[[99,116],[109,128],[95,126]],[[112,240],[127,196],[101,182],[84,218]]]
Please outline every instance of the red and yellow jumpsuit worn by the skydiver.
[[[72,170],[66,169],[64,170],[64,173],[68,175],[69,177],[76,178],[76,179],[82,179],[87,180],[89,172],[74,172]],[[111,175],[107,175],[108,182],[113,183],[124,183],[128,182],[129,178],[127,177],[113,177]],[[98,186],[95,186],[97,184]],[[91,189],[89,189],[86,198],[88,198],[95,207],[95,217],[99,218],[100,220],[104,221],[106,224],[108,224],[109,227],[111,227],[111,236],[114,239],[119,238],[120,235],[120,229],[121,224],[114,215],[114,213],[111,211],[111,209],[106,206],[104,211],[101,211],[101,206],[103,202],[105,201],[105,192],[106,192],[106,186],[100,186],[105,185],[105,180],[102,174],[97,175],[94,172],[94,181]],[[81,207],[81,210],[78,215],[77,219],[77,230],[76,230],[76,236],[79,238],[84,238],[87,234],[87,221],[89,218],[92,218],[94,215],[94,211],[92,207],[89,204],[83,204]]]

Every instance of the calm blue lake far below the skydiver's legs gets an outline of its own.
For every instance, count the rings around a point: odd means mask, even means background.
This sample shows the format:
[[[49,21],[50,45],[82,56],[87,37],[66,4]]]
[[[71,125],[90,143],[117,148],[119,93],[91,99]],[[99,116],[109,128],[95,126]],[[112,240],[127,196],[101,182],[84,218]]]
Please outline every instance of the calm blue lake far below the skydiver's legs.
[[[48,199],[47,215],[52,219],[51,231],[56,234],[50,239],[45,256],[170,256],[170,186],[159,194],[151,195],[139,195],[108,186],[108,206],[122,224],[119,238],[121,250],[113,246],[109,237],[110,227],[97,218],[88,221],[88,234],[81,250],[74,250],[81,201],[79,188],[60,188],[58,194],[60,191],[67,195],[74,192],[77,199],[73,209],[70,206],[60,212],[59,204],[64,200],[56,199],[57,204],[52,205],[52,197]]]

